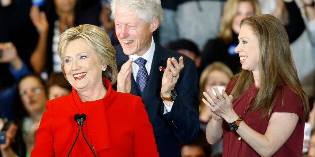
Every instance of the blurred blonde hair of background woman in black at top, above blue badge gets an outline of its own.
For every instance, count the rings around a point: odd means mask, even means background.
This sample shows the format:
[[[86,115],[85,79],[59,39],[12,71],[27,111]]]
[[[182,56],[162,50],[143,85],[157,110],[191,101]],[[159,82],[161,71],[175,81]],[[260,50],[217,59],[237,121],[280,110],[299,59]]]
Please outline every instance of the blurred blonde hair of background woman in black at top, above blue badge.
[[[240,2],[250,2],[254,8],[254,15],[260,14],[258,0],[227,0],[223,7],[223,15],[218,34],[218,37],[222,38],[224,42],[230,42],[232,40],[232,22],[237,14],[237,8]]]

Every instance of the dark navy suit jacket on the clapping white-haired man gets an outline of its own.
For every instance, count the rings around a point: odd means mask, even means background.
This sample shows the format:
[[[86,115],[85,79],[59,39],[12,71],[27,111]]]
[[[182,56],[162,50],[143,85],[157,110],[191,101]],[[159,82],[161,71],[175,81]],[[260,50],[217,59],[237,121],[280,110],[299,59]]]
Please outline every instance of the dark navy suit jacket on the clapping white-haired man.
[[[156,43],[156,42],[155,42]],[[198,76],[196,65],[190,58],[180,53],[163,48],[155,44],[155,52],[148,84],[142,95],[131,76],[131,94],[141,96],[145,109],[149,115],[149,120],[153,126],[153,132],[160,156],[181,156],[180,142],[189,144],[198,134]],[[115,47],[118,71],[129,59],[123,53],[120,45]],[[159,67],[166,67],[169,57],[184,57],[184,68],[180,72],[180,77],[175,85],[177,99],[174,101],[172,110],[163,114],[164,104],[160,97],[161,81],[163,71]]]

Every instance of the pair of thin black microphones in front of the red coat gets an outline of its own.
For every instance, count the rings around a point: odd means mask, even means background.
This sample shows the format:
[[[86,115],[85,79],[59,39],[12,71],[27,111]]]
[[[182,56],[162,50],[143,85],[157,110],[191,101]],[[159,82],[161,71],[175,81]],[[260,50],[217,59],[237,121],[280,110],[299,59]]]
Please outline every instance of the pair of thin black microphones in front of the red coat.
[[[79,130],[78,130],[78,133],[77,133],[77,135],[76,135],[76,137],[75,137],[75,139],[74,139],[74,141],[73,141],[73,143],[72,143],[72,145],[71,145],[71,148],[70,148],[70,150],[69,150],[67,156],[69,156],[69,154],[70,154],[70,152],[71,152],[71,150],[72,150],[72,148],[73,148],[73,146],[74,146],[74,143],[76,142],[76,140],[77,140],[77,138],[78,138],[78,136],[79,136],[80,129],[81,129],[81,126],[82,126],[81,132],[82,132],[83,138],[84,138],[85,142],[87,143],[87,145],[90,147],[90,149],[91,149],[91,151],[93,152],[94,156],[96,157],[96,154],[95,154],[95,152],[94,152],[92,146],[91,146],[90,143],[87,141],[87,139],[86,139],[86,137],[85,137],[85,135],[84,135],[84,133],[83,133],[83,122],[84,122],[85,119],[86,119],[86,115],[85,115],[85,114],[81,114],[81,115],[75,114],[75,115],[73,116],[73,118],[74,118],[74,121],[76,121],[76,122],[78,123],[78,125],[79,125]]]

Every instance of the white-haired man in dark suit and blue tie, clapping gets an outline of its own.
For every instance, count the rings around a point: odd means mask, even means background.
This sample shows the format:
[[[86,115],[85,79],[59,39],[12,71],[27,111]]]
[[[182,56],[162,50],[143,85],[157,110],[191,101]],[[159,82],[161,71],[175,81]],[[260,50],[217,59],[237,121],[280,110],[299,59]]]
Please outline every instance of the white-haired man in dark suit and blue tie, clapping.
[[[195,62],[154,42],[160,0],[113,0],[111,9],[120,42],[117,91],[142,97],[159,155],[181,156],[180,142],[199,131]]]

